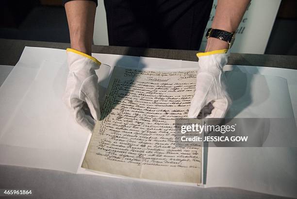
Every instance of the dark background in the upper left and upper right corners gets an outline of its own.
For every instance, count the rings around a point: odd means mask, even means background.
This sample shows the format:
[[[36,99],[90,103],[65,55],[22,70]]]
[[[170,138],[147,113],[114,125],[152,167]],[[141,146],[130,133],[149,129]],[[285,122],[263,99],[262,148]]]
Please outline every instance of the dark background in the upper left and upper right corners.
[[[62,0],[2,0],[0,38],[70,43]],[[265,54],[297,55],[297,0],[281,1]]]

